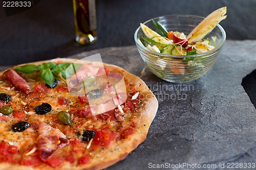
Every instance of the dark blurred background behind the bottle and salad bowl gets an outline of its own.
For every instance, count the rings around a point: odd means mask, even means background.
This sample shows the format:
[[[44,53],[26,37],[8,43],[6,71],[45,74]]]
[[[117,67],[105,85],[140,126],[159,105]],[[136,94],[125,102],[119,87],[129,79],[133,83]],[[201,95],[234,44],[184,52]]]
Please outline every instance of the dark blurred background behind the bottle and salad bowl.
[[[110,46],[135,45],[139,23],[168,14],[207,16],[227,6],[221,22],[227,39],[256,39],[255,0],[99,0],[98,40],[92,45],[75,42],[72,1],[41,0],[35,7],[7,17],[0,7],[0,65],[14,65]],[[249,45],[249,44],[248,44]]]

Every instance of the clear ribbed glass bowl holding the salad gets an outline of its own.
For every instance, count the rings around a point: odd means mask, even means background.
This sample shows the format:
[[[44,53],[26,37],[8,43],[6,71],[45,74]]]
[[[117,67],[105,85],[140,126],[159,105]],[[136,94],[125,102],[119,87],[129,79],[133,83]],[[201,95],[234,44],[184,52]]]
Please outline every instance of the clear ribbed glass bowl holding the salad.
[[[179,31],[188,35],[204,18],[195,15],[166,15],[153,19],[160,22],[167,31]],[[152,20],[147,20],[144,24],[155,31]],[[217,25],[204,38],[209,38],[211,44],[214,44],[212,37],[216,36],[216,47],[213,50],[201,54],[177,56],[149,50],[139,40],[140,36],[143,35],[140,27],[134,34],[141,58],[153,74],[165,81],[174,83],[189,82],[202,77],[214,65],[226,41],[224,29]]]

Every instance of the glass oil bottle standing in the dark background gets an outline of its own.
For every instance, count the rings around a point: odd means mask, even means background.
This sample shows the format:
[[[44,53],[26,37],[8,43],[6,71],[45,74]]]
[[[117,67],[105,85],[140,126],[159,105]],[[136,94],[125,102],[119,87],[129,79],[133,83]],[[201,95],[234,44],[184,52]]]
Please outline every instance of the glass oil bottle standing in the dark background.
[[[73,0],[76,41],[92,44],[97,40],[95,0]]]

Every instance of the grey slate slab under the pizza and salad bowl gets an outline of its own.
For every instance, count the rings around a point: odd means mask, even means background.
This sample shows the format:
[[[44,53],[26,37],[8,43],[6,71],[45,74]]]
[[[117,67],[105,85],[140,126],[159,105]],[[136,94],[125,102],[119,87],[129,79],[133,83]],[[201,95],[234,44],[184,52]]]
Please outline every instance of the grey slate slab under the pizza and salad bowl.
[[[216,64],[202,78],[187,84],[154,76],[136,46],[71,56],[100,53],[103,62],[121,66],[144,80],[159,101],[147,139],[125,160],[107,169],[151,169],[160,164],[165,166],[157,169],[227,169],[228,163],[243,163],[228,169],[246,169],[246,163],[247,167],[256,163],[256,110],[241,85],[256,69],[256,48],[251,46],[256,46],[255,40],[227,40]],[[225,168],[220,167],[223,164]]]

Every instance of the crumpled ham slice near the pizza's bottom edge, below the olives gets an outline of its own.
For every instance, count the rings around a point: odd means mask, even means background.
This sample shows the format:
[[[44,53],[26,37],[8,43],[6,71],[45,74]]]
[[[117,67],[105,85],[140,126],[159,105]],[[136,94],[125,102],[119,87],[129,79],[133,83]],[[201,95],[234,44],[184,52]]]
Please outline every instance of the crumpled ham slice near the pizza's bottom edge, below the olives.
[[[41,160],[46,161],[57,148],[65,147],[67,144],[69,140],[59,129],[52,128],[46,123],[38,125],[37,150]]]

